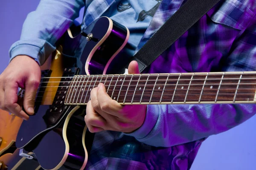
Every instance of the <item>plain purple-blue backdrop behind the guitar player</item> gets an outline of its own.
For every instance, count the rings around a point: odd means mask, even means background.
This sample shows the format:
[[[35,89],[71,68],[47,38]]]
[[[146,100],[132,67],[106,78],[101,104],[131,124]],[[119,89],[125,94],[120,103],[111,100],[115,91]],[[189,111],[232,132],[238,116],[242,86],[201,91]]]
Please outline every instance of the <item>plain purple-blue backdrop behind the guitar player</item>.
[[[26,15],[39,0],[0,0],[0,73],[9,63],[8,51],[20,37]],[[81,22],[83,9],[78,20]],[[256,116],[227,132],[209,137],[191,170],[256,170]]]

